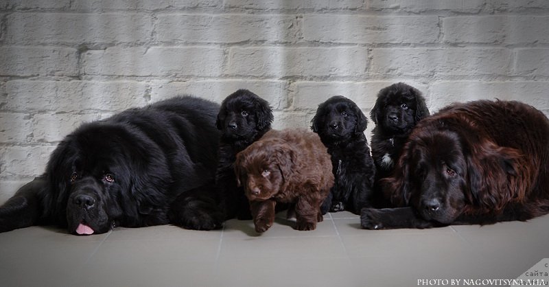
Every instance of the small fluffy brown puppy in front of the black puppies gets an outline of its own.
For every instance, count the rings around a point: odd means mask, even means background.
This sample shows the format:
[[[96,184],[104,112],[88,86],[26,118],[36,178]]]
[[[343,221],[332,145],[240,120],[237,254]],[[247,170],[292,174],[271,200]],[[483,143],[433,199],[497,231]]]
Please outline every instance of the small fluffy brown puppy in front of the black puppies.
[[[235,174],[259,233],[272,226],[277,203],[294,206],[295,229],[316,229],[323,220],[320,204],[334,185],[326,147],[304,130],[269,131],[237,154]]]

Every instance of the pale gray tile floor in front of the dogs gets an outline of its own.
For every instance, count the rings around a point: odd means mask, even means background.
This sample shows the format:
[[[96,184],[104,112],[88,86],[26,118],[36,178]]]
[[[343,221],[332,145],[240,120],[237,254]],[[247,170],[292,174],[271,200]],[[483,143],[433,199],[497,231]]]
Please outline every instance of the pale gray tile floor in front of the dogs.
[[[281,214],[280,216],[283,216]],[[417,286],[418,279],[515,279],[549,257],[549,216],[479,227],[368,231],[348,212],[315,231],[277,218],[220,231],[173,226],[72,236],[0,233],[0,286]]]

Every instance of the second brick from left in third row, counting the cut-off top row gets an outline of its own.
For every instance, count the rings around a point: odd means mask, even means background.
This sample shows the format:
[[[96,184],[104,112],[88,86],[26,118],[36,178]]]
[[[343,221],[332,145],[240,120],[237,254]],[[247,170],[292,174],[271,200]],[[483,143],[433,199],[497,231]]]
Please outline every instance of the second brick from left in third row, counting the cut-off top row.
[[[212,47],[112,47],[86,51],[83,71],[101,76],[220,76],[224,50]]]

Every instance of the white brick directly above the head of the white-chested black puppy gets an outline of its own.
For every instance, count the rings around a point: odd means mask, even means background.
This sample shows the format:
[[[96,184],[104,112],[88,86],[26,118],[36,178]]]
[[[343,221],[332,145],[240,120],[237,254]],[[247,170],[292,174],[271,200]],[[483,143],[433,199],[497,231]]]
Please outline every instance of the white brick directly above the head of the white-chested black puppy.
[[[371,54],[371,73],[385,76],[505,76],[512,58],[500,48],[373,49]]]

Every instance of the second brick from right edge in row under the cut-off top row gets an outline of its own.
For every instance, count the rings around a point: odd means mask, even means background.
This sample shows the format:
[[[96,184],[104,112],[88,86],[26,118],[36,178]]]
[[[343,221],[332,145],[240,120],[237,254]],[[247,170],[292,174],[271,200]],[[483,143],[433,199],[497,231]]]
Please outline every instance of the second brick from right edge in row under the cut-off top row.
[[[303,16],[303,39],[320,43],[436,43],[438,16]]]

